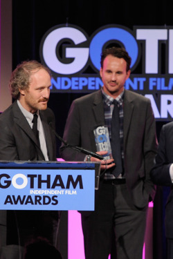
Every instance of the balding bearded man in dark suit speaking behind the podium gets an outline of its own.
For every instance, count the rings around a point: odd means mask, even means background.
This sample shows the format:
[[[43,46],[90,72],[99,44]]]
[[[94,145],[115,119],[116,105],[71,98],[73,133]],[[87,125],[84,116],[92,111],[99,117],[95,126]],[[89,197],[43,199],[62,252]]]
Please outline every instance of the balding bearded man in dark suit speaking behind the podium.
[[[10,92],[16,100],[0,115],[0,160],[56,160],[50,87],[51,74],[37,61],[24,61],[12,72]],[[57,211],[0,211],[1,258],[22,258],[17,245],[24,247],[33,237],[55,244],[58,222]]]

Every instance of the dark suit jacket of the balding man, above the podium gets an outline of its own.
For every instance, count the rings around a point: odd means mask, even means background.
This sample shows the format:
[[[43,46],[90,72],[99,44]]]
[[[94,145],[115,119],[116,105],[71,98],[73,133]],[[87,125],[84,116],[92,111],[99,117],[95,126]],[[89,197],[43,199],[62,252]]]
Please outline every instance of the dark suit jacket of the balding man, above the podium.
[[[56,160],[55,135],[48,122],[55,128],[53,111],[47,108],[39,111],[46,137],[49,160]],[[44,155],[37,146],[36,137],[26,117],[14,102],[0,115],[0,160],[44,160]]]

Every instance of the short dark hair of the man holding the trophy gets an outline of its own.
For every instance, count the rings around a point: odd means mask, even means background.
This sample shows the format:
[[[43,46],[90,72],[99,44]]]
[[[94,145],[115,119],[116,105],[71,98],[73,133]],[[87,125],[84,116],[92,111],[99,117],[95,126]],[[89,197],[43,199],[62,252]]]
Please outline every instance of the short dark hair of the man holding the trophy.
[[[125,50],[125,48],[117,48],[117,47],[112,47],[112,48],[106,48],[102,54],[101,54],[101,68],[103,67],[103,62],[104,59],[108,56],[112,55],[113,57],[118,57],[118,59],[125,59],[127,63],[127,71],[130,70],[130,65],[131,65],[131,57],[129,57],[129,54]]]

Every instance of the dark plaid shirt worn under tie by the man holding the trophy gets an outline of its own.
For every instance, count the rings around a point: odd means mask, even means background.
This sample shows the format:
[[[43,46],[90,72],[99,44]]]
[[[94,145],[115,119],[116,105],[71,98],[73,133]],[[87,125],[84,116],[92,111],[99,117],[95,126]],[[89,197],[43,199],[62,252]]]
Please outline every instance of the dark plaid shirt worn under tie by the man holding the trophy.
[[[120,93],[120,95],[118,95],[118,97],[116,97],[116,101],[118,102],[118,107],[119,107],[119,119],[120,119],[120,146],[121,146],[121,155],[122,155],[122,166],[123,166],[123,161],[124,161],[124,150],[123,150],[123,96],[124,96],[124,91],[122,93]],[[102,89],[102,98],[103,98],[103,102],[104,102],[104,124],[105,126],[107,126],[108,130],[109,130],[109,137],[111,140],[111,116],[113,113],[113,108],[114,108],[114,104],[113,104],[113,97],[107,95],[106,93],[104,93],[103,89]],[[118,176],[119,178],[119,176]],[[122,178],[122,175],[120,175],[120,178]],[[104,174],[104,179],[115,179],[114,175],[112,175],[109,172],[106,172]]]

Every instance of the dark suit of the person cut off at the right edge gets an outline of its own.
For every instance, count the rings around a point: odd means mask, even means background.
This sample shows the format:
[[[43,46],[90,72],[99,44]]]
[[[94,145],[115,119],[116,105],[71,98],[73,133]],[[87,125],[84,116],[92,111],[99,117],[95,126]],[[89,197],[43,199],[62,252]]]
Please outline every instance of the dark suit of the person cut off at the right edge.
[[[173,163],[173,122],[163,125],[156,155],[156,164],[151,171],[155,184],[173,187],[170,178],[170,165]],[[167,198],[165,209],[165,233],[167,238],[173,238],[173,191]]]

